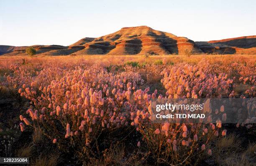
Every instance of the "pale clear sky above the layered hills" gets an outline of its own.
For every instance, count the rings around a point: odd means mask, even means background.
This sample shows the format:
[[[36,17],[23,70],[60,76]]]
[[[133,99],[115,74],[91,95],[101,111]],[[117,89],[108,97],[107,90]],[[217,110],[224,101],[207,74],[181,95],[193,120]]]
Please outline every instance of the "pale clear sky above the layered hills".
[[[0,45],[71,45],[146,25],[194,41],[256,35],[256,0],[0,0]]]

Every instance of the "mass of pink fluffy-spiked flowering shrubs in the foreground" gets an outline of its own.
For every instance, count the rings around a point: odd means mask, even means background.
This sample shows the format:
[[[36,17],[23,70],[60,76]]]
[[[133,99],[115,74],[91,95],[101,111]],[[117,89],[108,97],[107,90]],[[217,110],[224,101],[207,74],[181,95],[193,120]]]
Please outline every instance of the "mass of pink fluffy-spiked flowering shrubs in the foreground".
[[[86,60],[34,60],[26,65],[4,62],[0,65],[0,70],[5,71],[0,84],[17,88],[20,96],[31,102],[26,113],[20,115],[21,131],[38,128],[52,144],[74,152],[80,161],[86,162],[95,155],[100,137],[107,139],[113,132],[122,134],[126,128],[141,134],[134,146],[149,151],[159,164],[189,164],[202,154],[211,156],[212,140],[228,133],[222,129],[221,121],[152,123],[152,101],[253,98],[255,67],[251,63],[221,65],[205,60],[197,64],[170,65],[167,59],[161,62],[135,66],[123,62],[118,68]],[[154,87],[156,83],[161,83],[164,93]],[[246,87],[237,92],[241,84]],[[253,100],[250,103],[248,109],[253,109]],[[224,112],[224,108],[220,111]],[[240,124],[251,127],[246,122]]]

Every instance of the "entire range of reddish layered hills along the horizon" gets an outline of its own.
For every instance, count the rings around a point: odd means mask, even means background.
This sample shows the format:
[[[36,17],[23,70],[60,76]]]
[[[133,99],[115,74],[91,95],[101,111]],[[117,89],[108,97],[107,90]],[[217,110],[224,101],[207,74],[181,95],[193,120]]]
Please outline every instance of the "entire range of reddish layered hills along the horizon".
[[[26,55],[26,48],[0,45],[0,55]],[[151,27],[123,27],[102,37],[85,37],[67,47],[34,45],[37,55],[182,55],[256,54],[256,36],[244,36],[208,42],[194,42],[186,37],[154,30]]]

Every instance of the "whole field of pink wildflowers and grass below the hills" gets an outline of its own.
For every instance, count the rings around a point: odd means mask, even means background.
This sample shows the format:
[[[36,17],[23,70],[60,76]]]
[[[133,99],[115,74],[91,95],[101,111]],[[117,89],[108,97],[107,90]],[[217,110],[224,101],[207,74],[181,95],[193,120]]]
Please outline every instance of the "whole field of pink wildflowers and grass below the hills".
[[[255,60],[1,57],[0,156],[29,156],[34,165],[254,165],[255,124],[152,123],[151,107],[248,98],[255,117]]]

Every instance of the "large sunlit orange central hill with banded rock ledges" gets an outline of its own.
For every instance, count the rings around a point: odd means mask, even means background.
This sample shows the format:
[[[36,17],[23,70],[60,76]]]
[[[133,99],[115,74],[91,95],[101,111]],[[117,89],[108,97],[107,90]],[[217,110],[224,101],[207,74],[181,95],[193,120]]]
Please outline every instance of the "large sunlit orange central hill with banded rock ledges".
[[[81,46],[79,41],[72,46]],[[86,42],[83,46],[85,48],[76,54],[168,55],[182,54],[185,50],[202,53],[195,42],[186,37],[177,37],[171,33],[153,30],[147,26],[124,27],[110,35]]]

